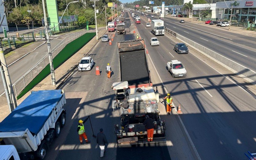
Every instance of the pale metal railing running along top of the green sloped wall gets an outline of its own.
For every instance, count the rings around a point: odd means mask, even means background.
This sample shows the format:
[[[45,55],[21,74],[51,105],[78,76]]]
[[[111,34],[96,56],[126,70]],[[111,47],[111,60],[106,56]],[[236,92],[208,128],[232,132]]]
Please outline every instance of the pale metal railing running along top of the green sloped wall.
[[[85,33],[95,32],[95,29],[89,29],[88,31],[83,29],[81,31],[75,32],[67,37],[65,37],[59,44],[57,44],[52,49],[52,59],[56,57],[58,53],[70,42],[74,41],[78,37],[84,35]],[[14,84],[13,89],[15,95],[19,95],[22,90],[49,64],[48,53],[39,60],[32,68],[30,68],[23,76],[20,77]]]

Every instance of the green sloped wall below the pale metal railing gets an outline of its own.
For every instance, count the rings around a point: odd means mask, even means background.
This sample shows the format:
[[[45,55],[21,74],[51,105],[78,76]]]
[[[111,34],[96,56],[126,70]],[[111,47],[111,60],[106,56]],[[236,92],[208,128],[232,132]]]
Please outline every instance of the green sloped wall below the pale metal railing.
[[[68,60],[73,54],[79,51],[85,44],[87,44],[96,33],[86,33],[83,36],[77,38],[76,40],[67,44],[60,53],[54,57],[53,67],[54,69],[58,68],[63,62]],[[48,64],[25,88],[24,90],[17,95],[17,100],[24,96],[28,91],[41,82],[45,77],[50,75],[50,64]]]

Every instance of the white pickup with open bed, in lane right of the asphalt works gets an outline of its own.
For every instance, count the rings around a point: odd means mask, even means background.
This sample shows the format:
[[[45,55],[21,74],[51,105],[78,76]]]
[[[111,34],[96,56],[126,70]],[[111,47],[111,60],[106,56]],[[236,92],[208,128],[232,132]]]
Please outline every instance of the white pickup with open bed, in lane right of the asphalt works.
[[[183,64],[178,60],[171,60],[167,62],[167,68],[172,74],[172,77],[186,77],[187,70],[183,66]]]

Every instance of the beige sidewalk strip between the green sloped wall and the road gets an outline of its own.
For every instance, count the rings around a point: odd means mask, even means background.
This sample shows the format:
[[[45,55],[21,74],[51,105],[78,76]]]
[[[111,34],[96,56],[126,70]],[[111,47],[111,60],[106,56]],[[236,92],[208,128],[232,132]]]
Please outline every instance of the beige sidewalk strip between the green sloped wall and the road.
[[[98,36],[101,37],[104,35],[106,30],[100,30],[98,33]],[[100,38],[99,40],[100,41]],[[67,61],[65,61],[60,67],[55,69],[55,78],[56,78],[56,86],[51,85],[51,75],[48,75],[43,81],[41,81],[39,84],[37,84],[32,90],[38,91],[38,90],[53,90],[58,88],[58,86],[66,80],[69,73],[71,73],[75,68],[78,62],[81,60],[82,57],[84,57],[91,49],[92,47],[98,42],[96,41],[96,38],[93,37],[91,41],[89,41],[87,44],[84,45],[83,48],[81,48],[78,52],[76,52],[73,56],[71,56]],[[29,92],[25,94],[22,98],[17,100],[17,104],[19,105],[27,96],[29,95]],[[0,101],[2,102],[0,104],[0,122],[4,120],[6,116],[10,114],[9,107],[7,105],[7,100],[5,96],[0,97]]]

